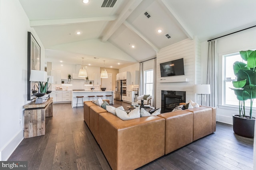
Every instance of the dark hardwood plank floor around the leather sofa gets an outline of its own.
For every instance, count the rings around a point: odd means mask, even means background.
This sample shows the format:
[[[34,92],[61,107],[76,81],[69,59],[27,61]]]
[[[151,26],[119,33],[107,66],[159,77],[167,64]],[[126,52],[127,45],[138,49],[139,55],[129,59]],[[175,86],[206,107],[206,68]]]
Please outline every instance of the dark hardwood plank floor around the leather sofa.
[[[129,104],[115,101],[115,107]],[[83,118],[83,107],[54,104],[46,135],[24,139],[8,160],[28,161],[30,170],[111,170]],[[138,170],[252,170],[253,139],[235,135],[232,125],[162,156]]]

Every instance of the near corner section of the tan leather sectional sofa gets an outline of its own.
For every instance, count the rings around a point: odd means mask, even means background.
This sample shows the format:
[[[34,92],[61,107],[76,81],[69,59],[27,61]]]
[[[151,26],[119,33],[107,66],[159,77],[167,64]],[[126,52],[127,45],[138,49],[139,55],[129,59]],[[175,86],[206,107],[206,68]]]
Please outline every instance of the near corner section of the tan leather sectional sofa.
[[[99,145],[113,170],[139,168],[164,155],[165,120],[158,116],[123,121],[99,117]]]

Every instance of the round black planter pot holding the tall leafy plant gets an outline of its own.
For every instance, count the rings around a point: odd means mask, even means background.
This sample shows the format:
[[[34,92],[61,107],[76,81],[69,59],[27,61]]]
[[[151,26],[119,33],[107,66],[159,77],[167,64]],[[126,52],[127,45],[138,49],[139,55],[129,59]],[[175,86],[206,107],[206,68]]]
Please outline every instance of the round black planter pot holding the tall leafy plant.
[[[242,137],[254,138],[254,119],[247,119],[239,117],[239,115],[233,115],[233,131],[237,135]]]

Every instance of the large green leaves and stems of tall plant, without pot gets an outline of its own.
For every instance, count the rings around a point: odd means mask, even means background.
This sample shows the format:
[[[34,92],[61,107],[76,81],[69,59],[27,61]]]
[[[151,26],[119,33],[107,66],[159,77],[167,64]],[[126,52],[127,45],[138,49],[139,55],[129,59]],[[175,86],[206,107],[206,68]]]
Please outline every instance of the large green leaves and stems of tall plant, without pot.
[[[252,104],[256,98],[256,51],[240,51],[240,56],[247,63],[236,61],[233,64],[237,81],[233,81],[234,90],[239,100],[239,115],[246,117],[245,101],[250,100],[250,119],[252,119]]]

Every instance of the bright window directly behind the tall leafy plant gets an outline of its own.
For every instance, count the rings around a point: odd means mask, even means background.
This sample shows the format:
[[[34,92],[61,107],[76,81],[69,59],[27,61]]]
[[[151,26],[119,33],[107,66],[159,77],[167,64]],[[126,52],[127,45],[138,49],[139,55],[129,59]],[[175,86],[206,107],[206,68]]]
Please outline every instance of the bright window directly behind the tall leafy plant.
[[[235,61],[244,62],[244,60],[240,57],[240,53],[234,53],[229,55],[224,55],[224,105],[226,106],[239,106],[239,101],[236,98],[236,95],[233,90],[230,88],[234,88],[232,81],[236,81],[236,76],[233,71],[233,63]],[[246,107],[250,107],[250,100],[246,100]],[[256,107],[256,103],[254,102],[253,107]]]

